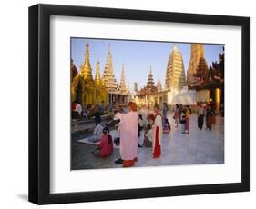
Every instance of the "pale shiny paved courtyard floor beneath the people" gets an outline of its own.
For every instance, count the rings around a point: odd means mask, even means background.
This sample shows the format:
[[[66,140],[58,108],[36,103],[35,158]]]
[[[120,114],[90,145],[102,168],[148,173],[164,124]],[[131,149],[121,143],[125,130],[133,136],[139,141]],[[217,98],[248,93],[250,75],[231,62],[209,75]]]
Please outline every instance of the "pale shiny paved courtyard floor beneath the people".
[[[172,115],[172,113],[169,114],[171,132],[163,134],[160,158],[152,158],[152,148],[138,148],[138,162],[135,167],[224,163],[224,118],[216,116],[216,124],[212,125],[211,132],[205,130],[205,122],[200,131],[197,127],[197,115],[192,114],[190,116],[190,133],[182,134],[180,126],[175,128]],[[114,163],[119,156],[117,148],[114,149],[111,156],[99,158],[91,154],[91,151],[96,149],[96,145],[78,142],[84,137],[87,137],[87,134],[72,137],[72,170],[122,167],[122,165]],[[139,138],[138,142],[142,144],[143,138]]]

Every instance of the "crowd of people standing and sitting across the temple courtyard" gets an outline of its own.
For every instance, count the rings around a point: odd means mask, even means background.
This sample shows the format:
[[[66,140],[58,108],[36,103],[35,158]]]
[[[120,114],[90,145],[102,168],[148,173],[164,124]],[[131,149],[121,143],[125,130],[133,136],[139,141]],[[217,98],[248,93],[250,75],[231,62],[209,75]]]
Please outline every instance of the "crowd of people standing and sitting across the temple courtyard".
[[[92,107],[88,108],[91,109]],[[118,124],[119,139],[115,141],[109,134],[108,125],[102,124],[100,115],[102,109],[98,105],[93,107],[93,115],[96,121],[94,135],[90,137],[91,142],[97,144],[97,150],[93,152],[99,157],[106,157],[113,153],[114,143],[119,145],[120,157],[115,161],[116,164],[123,164],[123,167],[130,167],[138,161],[138,147],[150,147],[152,149],[152,157],[159,158],[161,155],[161,141],[163,134],[171,132],[171,125],[168,119],[169,107],[163,104],[162,111],[158,104],[154,105],[154,114],[148,114],[147,118],[143,118],[138,113],[138,106],[134,102],[129,102],[126,108],[116,111],[113,121],[110,124]],[[104,109],[103,109],[104,110]],[[74,106],[74,111],[81,114],[79,104]],[[189,134],[190,115],[192,111],[189,105],[176,104],[173,119],[175,128],[179,129],[182,134]],[[206,121],[206,129],[211,131],[214,124],[214,109],[212,105],[200,103],[197,106],[198,127],[202,130],[204,118]],[[180,125],[179,125],[180,124]],[[138,138],[143,137],[143,143],[138,143]]]

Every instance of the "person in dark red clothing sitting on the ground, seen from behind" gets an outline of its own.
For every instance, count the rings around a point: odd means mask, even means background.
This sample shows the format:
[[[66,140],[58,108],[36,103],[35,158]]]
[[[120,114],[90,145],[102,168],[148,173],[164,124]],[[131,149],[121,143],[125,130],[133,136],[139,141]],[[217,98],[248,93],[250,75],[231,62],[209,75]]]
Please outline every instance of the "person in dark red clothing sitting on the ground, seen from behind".
[[[97,146],[97,150],[94,152],[97,156],[106,157],[113,153],[113,141],[111,135],[109,135],[108,127],[103,129],[103,135],[100,143]]]

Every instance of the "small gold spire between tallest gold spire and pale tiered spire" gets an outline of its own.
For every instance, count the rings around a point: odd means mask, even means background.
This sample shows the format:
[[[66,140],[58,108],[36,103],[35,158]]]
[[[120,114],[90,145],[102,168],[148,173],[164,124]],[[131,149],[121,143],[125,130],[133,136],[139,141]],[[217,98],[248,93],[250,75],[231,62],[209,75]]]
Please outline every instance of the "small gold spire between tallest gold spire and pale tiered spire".
[[[102,101],[104,101],[105,104],[108,103],[108,91],[100,79],[99,62],[97,61],[95,74],[95,103],[100,104]]]

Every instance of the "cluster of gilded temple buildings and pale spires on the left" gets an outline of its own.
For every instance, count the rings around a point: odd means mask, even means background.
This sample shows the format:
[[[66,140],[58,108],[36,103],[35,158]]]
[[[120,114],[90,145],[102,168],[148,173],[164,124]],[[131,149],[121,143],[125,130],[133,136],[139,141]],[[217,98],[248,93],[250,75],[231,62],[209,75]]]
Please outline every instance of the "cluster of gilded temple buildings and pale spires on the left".
[[[100,66],[97,61],[96,75],[93,78],[92,67],[89,60],[89,45],[86,43],[86,53],[80,71],[71,60],[71,99],[82,104],[83,108],[87,104],[125,104],[128,102],[129,91],[125,82],[125,69],[122,65],[120,85],[114,75],[112,55],[110,45],[108,45],[108,56],[102,78],[100,77]]]

